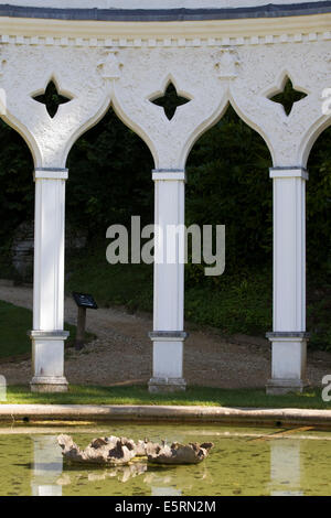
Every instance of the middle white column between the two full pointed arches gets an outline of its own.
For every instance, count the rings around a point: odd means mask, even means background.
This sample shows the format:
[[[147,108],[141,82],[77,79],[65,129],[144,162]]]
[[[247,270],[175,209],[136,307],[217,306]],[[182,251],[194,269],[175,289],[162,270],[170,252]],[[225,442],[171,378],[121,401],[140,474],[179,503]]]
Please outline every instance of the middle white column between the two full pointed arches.
[[[185,218],[185,172],[153,171],[156,185],[156,247],[153,301],[153,377],[150,392],[184,390],[183,349],[184,263],[183,225]],[[181,228],[178,226],[182,225]],[[179,228],[172,250],[167,229]]]

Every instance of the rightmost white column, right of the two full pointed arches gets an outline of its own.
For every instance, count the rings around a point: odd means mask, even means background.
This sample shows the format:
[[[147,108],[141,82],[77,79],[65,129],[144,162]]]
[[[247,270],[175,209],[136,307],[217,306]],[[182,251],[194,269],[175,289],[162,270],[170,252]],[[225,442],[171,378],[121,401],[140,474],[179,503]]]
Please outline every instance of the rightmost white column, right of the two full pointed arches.
[[[306,385],[306,181],[303,168],[274,168],[274,332],[267,393]]]

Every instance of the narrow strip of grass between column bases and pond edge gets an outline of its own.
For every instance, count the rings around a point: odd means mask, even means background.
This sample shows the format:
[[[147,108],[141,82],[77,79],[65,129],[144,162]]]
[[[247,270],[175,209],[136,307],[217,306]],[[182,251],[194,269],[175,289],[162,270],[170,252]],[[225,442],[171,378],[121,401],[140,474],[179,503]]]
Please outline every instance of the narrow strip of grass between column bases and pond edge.
[[[201,404],[204,407],[331,409],[331,403],[322,401],[320,389],[309,389],[303,393],[286,396],[266,396],[263,389],[228,390],[189,387],[185,392],[151,395],[145,386],[71,386],[67,393],[57,395],[31,393],[29,387],[10,386],[8,400],[3,404],[6,403]]]

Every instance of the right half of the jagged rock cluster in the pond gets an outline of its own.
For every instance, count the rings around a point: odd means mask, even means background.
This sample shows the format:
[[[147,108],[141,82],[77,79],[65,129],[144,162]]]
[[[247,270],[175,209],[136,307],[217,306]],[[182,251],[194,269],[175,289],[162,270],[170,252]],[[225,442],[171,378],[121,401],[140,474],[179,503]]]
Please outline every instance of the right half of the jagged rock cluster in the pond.
[[[190,443],[188,445],[178,442],[168,446],[166,444],[147,444],[147,457],[154,464],[199,464],[210,453],[213,443]]]

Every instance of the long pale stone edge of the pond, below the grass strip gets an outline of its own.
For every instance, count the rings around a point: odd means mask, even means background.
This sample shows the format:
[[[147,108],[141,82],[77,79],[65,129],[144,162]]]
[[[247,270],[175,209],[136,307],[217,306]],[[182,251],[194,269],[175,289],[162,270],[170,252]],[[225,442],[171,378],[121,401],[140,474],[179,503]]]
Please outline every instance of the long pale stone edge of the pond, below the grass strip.
[[[293,424],[331,429],[331,410],[180,406],[1,404],[0,422],[136,421]]]

